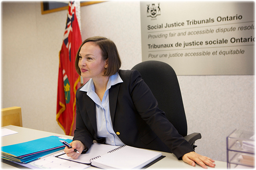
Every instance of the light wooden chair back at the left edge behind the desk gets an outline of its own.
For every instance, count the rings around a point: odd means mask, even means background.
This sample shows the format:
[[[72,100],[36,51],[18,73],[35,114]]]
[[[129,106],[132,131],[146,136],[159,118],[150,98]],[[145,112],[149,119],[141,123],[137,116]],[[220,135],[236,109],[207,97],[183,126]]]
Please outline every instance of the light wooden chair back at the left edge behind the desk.
[[[21,126],[22,127],[22,116],[21,116],[21,107],[7,107],[1,109],[1,126]]]

